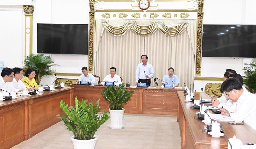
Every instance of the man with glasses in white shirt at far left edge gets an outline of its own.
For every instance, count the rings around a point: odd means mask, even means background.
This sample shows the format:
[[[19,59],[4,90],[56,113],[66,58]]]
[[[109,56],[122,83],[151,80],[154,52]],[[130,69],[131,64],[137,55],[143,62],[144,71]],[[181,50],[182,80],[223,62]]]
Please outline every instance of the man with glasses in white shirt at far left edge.
[[[4,68],[1,73],[0,77],[0,89],[11,92],[12,90],[12,79],[14,77],[13,70],[10,68]],[[3,94],[4,96],[9,96],[9,93],[5,91],[0,91],[0,94]]]

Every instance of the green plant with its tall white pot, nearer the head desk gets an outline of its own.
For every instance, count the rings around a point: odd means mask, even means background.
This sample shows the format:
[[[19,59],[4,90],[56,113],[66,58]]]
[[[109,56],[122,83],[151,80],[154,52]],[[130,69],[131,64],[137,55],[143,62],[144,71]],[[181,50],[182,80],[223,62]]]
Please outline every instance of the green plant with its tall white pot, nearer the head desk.
[[[124,105],[131,99],[132,91],[124,88],[124,84],[120,84],[118,87],[109,85],[102,90],[102,95],[105,97],[109,105],[110,112],[110,128],[111,129],[122,129]]]

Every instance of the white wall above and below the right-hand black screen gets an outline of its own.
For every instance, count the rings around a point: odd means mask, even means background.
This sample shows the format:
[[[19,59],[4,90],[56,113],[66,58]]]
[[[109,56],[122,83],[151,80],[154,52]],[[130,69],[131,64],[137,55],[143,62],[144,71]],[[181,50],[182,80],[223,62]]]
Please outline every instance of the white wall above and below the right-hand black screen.
[[[255,0],[205,0],[203,24],[256,24]],[[223,77],[226,69],[234,69],[244,75],[241,70],[244,63],[252,58],[202,57],[201,77]],[[200,90],[208,82],[194,81],[194,90]]]

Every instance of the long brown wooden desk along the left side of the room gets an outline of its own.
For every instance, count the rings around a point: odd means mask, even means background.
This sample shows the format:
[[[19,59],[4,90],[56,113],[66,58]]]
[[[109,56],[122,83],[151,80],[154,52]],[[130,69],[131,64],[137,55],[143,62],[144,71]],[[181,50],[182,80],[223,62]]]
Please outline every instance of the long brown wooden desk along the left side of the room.
[[[60,101],[73,104],[73,87],[0,101],[0,148],[11,148],[60,122]]]

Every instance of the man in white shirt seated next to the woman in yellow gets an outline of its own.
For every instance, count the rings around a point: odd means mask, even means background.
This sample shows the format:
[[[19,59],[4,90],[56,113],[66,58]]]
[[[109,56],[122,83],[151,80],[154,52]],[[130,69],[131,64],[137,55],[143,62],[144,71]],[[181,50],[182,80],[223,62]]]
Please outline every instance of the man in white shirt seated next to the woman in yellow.
[[[12,91],[15,92],[20,92],[22,90],[34,90],[32,87],[31,88],[27,88],[26,85],[21,81],[21,79],[23,78],[23,74],[22,74],[22,69],[21,68],[13,68],[12,69],[14,71],[14,78],[12,81]]]

